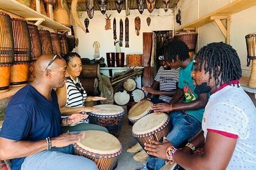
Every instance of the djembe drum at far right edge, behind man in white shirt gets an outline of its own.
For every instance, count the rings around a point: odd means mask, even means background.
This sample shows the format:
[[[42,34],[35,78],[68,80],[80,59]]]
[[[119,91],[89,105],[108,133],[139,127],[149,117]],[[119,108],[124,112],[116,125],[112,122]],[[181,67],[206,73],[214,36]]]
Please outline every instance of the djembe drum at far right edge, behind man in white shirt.
[[[245,36],[247,47],[247,66],[252,60],[252,70],[248,81],[248,86],[256,87],[256,33],[250,33]]]

